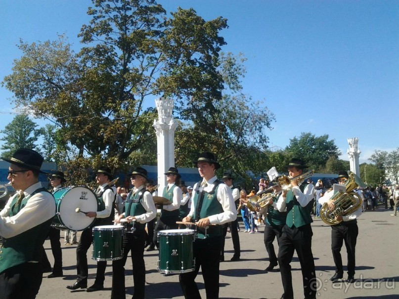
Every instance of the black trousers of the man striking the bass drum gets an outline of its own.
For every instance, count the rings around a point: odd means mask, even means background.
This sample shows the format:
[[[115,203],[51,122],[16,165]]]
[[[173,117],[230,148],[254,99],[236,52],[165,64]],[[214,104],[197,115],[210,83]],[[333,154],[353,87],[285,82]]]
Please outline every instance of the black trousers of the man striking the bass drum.
[[[93,242],[93,233],[92,229],[85,229],[82,232],[81,238],[79,240],[78,247],[76,248],[76,261],[77,261],[77,272],[78,279],[77,281],[87,281],[89,276],[88,269],[88,257],[87,253]],[[106,261],[97,261],[97,273],[95,276],[96,285],[103,285],[105,280],[105,268],[107,267]]]

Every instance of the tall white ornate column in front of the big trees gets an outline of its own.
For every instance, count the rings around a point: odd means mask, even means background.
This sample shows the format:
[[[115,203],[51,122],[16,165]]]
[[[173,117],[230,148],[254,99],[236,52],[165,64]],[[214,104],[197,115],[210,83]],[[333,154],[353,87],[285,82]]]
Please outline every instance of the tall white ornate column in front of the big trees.
[[[157,160],[158,160],[158,184],[159,195],[166,186],[164,173],[170,167],[175,166],[175,130],[176,123],[173,119],[173,108],[175,106],[171,98],[159,98],[155,100],[158,110],[158,120],[154,120],[153,127],[157,134]]]

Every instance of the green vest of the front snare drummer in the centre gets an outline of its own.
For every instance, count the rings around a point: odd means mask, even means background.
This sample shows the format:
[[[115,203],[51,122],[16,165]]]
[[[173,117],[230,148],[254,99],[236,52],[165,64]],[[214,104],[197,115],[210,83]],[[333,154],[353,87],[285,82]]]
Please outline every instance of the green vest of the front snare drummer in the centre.
[[[204,192],[204,200],[202,201],[201,211],[199,213],[199,219],[206,218],[211,215],[223,213],[223,207],[217,199],[219,184],[222,183],[220,180],[215,181],[215,186],[210,192]],[[193,202],[194,202],[194,217],[197,214],[197,204],[199,201],[200,192],[198,190],[200,182],[197,184],[197,188],[194,192]],[[195,219],[198,221],[199,219]],[[197,228],[197,236],[200,239],[205,238],[205,229]],[[222,225],[210,225],[206,231],[206,237],[218,237],[222,236]]]

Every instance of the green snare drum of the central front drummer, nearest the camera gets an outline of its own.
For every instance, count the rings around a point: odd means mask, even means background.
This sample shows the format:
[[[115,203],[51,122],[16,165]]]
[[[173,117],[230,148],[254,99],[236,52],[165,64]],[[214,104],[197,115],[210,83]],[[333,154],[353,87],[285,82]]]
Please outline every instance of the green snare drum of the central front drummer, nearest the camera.
[[[185,273],[194,271],[193,229],[167,229],[158,232],[158,271],[162,273]]]

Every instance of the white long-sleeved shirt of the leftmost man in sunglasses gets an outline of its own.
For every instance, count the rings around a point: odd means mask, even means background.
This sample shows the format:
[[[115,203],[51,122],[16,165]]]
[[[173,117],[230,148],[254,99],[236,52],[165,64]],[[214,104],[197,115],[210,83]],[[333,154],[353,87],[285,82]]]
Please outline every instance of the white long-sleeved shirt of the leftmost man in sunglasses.
[[[29,186],[24,191],[25,197],[31,196],[34,191],[41,187],[41,182]],[[39,192],[28,198],[26,206],[18,214],[9,217],[12,200],[17,194],[18,192],[7,201],[4,209],[0,212],[0,235],[4,238],[15,237],[55,215],[54,197],[49,192]]]

